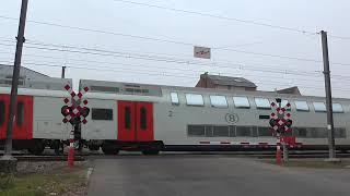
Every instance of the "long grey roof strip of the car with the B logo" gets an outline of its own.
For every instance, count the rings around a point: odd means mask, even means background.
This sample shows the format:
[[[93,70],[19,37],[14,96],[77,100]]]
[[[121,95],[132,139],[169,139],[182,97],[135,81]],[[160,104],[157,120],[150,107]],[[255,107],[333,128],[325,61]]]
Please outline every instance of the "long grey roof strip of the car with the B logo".
[[[266,97],[283,97],[283,98],[307,98],[307,99],[324,99],[319,96],[303,96],[293,94],[278,94],[277,91],[262,90],[226,90],[214,88],[200,87],[184,87],[184,86],[166,86],[154,84],[140,83],[124,83],[124,82],[106,82],[94,79],[80,79],[80,88],[88,86],[91,93],[109,93],[109,94],[127,94],[127,95],[143,95],[143,96],[161,96],[162,90],[178,90],[199,94],[225,94],[225,95],[245,95],[245,96],[266,96]],[[346,98],[332,98],[336,100],[349,101]]]

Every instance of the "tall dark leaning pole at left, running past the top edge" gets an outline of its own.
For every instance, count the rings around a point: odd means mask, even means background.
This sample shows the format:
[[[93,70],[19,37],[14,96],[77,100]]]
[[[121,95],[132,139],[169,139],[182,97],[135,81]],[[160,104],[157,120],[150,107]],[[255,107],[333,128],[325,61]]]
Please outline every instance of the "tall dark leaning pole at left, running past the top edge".
[[[19,32],[16,37],[18,44],[16,44],[13,75],[12,75],[12,87],[11,87],[11,97],[10,97],[10,117],[8,122],[4,155],[0,159],[0,168],[2,168],[4,172],[13,172],[16,170],[16,159],[12,157],[12,133],[13,133],[13,125],[15,122],[14,114],[15,114],[15,105],[16,105],[16,98],[18,98],[22,49],[23,49],[23,42],[25,41],[24,29],[25,29],[27,5],[28,5],[28,0],[22,0]]]

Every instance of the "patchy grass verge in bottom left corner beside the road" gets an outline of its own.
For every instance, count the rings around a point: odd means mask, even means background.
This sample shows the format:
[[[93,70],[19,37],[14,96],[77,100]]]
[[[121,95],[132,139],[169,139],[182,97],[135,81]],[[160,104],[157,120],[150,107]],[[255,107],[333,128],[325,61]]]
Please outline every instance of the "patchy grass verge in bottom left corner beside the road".
[[[88,168],[61,168],[48,173],[0,175],[0,196],[62,195],[86,186]]]

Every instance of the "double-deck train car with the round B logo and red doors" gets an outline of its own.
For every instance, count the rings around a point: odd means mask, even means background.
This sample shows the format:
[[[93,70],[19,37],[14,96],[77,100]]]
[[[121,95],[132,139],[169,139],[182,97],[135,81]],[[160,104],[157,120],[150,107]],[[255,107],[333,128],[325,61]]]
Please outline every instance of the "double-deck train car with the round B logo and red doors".
[[[298,147],[327,148],[325,98],[271,91],[129,84],[81,79],[91,114],[82,125],[90,149],[105,154],[160,150],[267,149],[276,145],[269,130],[270,102],[291,103]],[[332,99],[337,147],[348,149],[349,99]]]

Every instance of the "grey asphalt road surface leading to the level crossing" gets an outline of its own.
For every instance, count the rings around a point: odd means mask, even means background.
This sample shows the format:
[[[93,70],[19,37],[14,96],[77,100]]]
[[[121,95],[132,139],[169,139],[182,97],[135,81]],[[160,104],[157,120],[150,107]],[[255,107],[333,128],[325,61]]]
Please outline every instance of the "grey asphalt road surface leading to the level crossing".
[[[225,156],[94,160],[89,196],[349,196],[350,170],[281,168]]]

